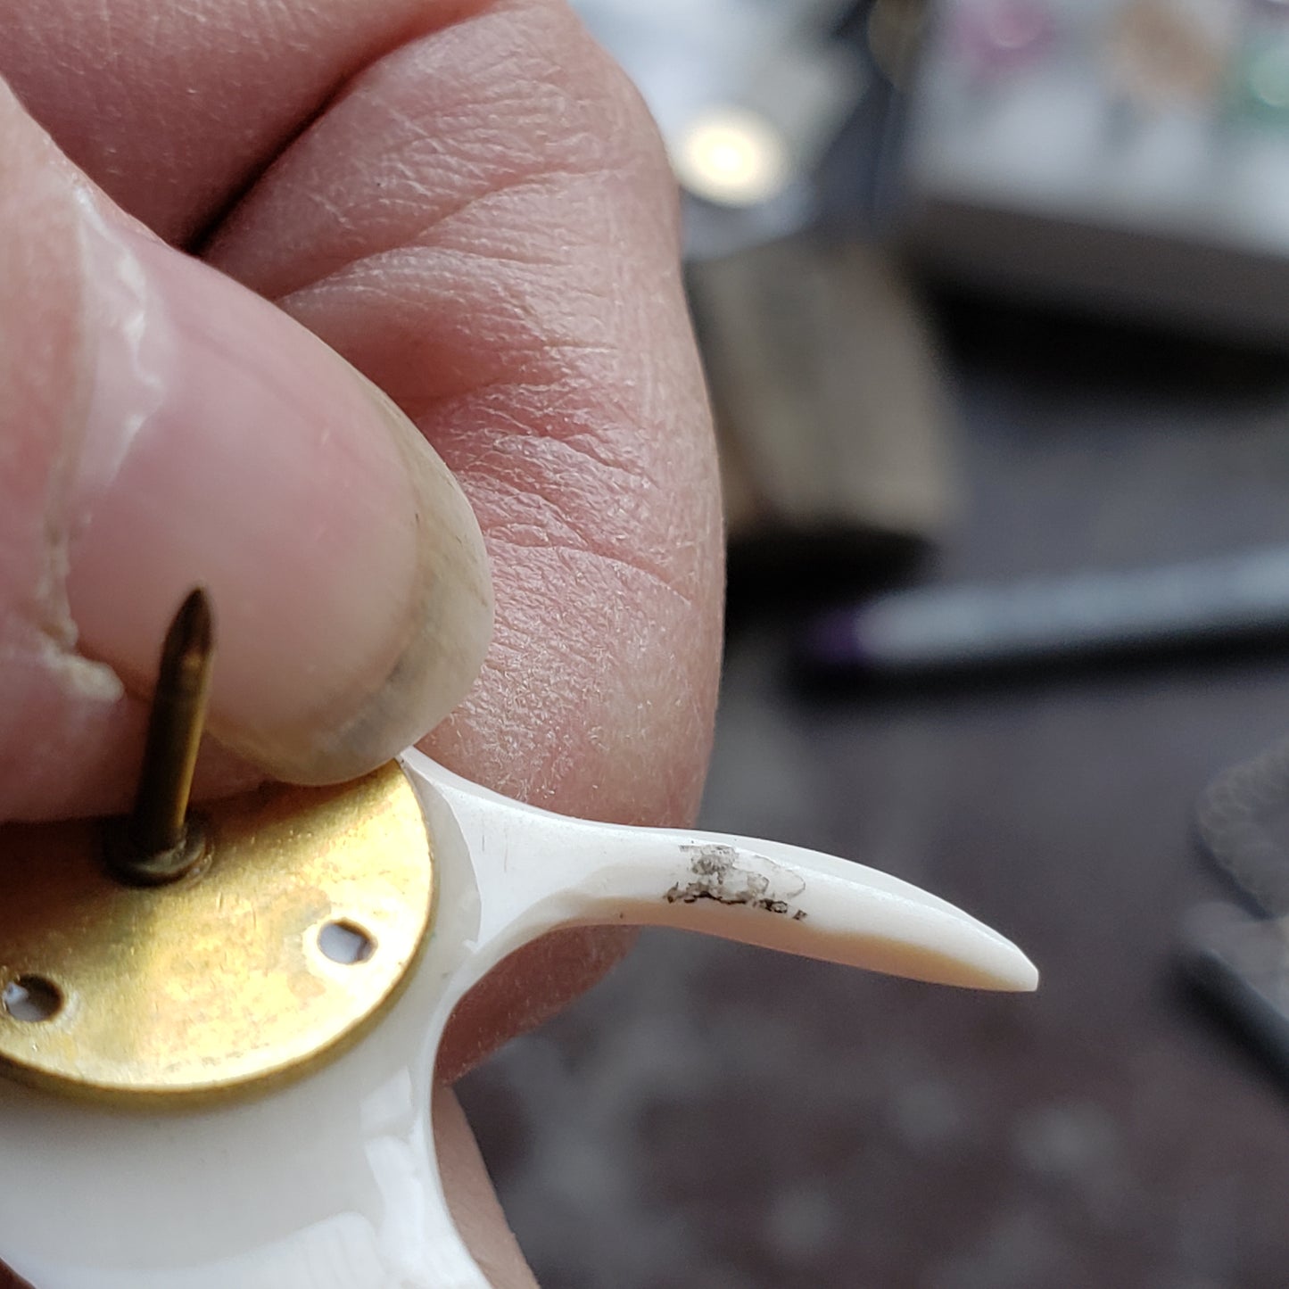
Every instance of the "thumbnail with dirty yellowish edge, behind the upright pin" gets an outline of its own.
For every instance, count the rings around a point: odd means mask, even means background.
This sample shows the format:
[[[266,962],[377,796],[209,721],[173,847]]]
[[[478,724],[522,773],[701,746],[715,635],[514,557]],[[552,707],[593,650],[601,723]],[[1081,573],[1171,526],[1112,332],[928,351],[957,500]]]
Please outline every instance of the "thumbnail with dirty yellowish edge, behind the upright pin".
[[[362,773],[482,663],[492,598],[469,504],[316,336],[84,205],[98,356],[68,494],[81,648],[150,692],[166,623],[205,585],[210,732],[278,777]]]

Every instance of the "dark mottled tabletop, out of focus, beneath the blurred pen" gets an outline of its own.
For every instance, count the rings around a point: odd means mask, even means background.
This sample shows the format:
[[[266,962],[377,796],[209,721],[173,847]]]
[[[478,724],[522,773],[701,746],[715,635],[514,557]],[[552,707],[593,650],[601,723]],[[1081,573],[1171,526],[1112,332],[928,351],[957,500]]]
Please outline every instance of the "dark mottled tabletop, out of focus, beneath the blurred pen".
[[[1289,543],[1289,361],[958,304],[931,577]],[[652,935],[463,1089],[545,1289],[1284,1289],[1289,1096],[1192,1008],[1190,811],[1289,730],[1281,654],[900,693],[739,606],[703,822],[887,867],[1039,963],[972,995]]]

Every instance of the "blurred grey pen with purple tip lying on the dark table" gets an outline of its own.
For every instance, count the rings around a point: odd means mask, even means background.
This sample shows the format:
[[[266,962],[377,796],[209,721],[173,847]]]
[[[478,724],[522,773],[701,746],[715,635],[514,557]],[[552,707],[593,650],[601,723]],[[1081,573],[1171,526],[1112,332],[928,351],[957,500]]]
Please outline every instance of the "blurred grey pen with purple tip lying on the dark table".
[[[891,592],[806,630],[807,665],[877,674],[1076,659],[1283,633],[1289,547],[1008,585]]]

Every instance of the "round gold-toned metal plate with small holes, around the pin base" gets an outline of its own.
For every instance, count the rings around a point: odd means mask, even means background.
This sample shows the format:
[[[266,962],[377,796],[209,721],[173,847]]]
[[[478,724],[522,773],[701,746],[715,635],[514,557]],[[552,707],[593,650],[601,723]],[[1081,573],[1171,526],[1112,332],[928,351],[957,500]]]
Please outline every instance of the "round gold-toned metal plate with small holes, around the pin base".
[[[0,1071],[135,1103],[267,1089],[393,1002],[434,897],[397,763],[199,813],[208,853],[165,887],[113,880],[101,824],[0,829]]]

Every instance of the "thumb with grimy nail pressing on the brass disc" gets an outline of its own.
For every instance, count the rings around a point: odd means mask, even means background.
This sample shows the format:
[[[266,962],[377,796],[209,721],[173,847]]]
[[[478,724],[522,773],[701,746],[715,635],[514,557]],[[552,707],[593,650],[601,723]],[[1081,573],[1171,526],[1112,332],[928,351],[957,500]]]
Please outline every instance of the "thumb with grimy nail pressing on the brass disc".
[[[0,819],[124,803],[196,584],[211,733],[296,781],[415,741],[491,629],[478,526],[415,427],[112,208],[0,84]]]

